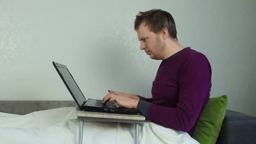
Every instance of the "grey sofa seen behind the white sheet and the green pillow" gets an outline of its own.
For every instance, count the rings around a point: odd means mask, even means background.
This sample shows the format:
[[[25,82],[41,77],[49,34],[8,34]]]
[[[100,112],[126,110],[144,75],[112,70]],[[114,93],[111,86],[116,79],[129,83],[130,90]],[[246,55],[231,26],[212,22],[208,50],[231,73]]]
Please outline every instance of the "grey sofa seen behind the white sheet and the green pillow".
[[[75,101],[0,101],[0,112],[25,115],[52,108],[76,107]],[[256,144],[256,117],[226,110],[216,144]]]

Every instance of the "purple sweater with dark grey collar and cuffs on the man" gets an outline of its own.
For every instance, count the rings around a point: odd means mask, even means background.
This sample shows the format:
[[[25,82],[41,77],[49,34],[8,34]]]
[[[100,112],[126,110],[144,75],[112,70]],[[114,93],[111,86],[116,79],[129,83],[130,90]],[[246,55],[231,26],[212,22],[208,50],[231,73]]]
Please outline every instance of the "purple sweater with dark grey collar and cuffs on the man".
[[[148,121],[192,136],[210,88],[207,57],[187,47],[161,62],[152,84],[152,98],[140,96],[137,109]]]

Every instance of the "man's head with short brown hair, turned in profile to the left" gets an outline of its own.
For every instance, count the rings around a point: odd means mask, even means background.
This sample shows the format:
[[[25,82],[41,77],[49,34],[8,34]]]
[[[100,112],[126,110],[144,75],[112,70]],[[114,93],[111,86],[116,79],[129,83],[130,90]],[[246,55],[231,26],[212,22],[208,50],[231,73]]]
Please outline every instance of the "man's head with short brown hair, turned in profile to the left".
[[[173,17],[163,10],[149,10],[136,15],[134,29],[141,41],[141,50],[151,59],[163,59],[167,40],[177,41]]]

